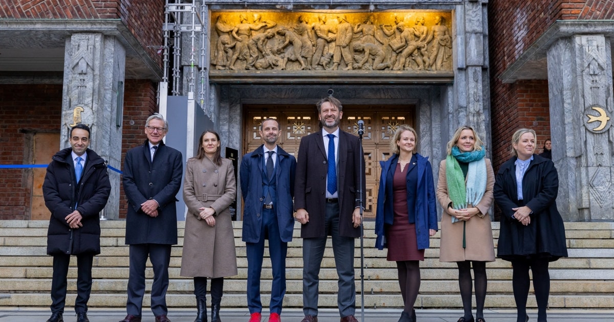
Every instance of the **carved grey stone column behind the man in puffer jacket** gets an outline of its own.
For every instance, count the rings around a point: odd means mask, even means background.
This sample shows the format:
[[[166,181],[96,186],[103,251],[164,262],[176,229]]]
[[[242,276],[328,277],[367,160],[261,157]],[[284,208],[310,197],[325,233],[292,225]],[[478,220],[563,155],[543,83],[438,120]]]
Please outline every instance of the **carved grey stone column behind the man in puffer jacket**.
[[[69,129],[91,128],[90,148],[109,166],[121,169],[122,114],[126,52],[113,36],[76,33],[66,40],[61,147],[70,147]],[[120,175],[109,170],[111,197],[104,216],[118,218]]]

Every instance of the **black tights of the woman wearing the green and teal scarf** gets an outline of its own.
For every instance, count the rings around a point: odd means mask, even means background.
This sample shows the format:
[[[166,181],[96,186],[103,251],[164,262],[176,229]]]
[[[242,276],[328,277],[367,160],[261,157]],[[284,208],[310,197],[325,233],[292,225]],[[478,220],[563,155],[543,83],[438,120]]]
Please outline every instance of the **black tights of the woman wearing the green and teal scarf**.
[[[471,266],[473,263],[473,283],[471,280]],[[472,289],[475,285],[475,317],[484,318],[484,300],[486,299],[486,262],[462,261],[459,266],[459,288],[461,289],[462,307],[465,311],[465,320],[472,318]],[[473,284],[473,285],[472,285]]]

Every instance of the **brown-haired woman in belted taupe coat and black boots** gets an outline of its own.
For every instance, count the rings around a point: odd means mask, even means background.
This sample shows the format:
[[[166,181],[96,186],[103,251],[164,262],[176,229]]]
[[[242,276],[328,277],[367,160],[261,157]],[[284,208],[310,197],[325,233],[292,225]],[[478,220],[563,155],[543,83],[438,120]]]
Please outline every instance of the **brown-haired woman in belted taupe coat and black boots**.
[[[185,169],[185,218],[181,276],[194,278],[198,309],[195,322],[207,321],[207,278],[211,278],[211,321],[220,321],[223,278],[237,274],[235,236],[228,206],[235,200],[236,180],[232,162],[220,156],[216,132],[200,136],[198,155]]]

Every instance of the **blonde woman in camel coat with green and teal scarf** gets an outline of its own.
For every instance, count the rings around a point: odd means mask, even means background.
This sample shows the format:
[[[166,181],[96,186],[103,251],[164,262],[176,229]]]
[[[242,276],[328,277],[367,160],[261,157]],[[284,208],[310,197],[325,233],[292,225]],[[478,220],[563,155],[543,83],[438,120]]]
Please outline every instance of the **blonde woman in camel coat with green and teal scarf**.
[[[439,166],[437,199],[441,215],[441,262],[456,262],[464,316],[458,322],[485,322],[486,262],[495,260],[491,208],[494,172],[478,134],[461,126],[448,142],[448,157]],[[476,316],[472,315],[472,277],[475,276]]]

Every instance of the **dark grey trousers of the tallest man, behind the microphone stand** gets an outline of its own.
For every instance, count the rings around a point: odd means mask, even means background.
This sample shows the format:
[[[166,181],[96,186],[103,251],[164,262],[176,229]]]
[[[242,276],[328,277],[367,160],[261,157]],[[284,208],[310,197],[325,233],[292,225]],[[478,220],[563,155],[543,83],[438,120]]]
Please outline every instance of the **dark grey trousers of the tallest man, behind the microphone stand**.
[[[339,275],[337,305],[341,317],[356,313],[354,238],[339,236],[339,204],[326,204],[325,231],[332,236],[335,267]],[[319,273],[327,237],[303,239],[303,313],[317,315]]]

